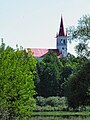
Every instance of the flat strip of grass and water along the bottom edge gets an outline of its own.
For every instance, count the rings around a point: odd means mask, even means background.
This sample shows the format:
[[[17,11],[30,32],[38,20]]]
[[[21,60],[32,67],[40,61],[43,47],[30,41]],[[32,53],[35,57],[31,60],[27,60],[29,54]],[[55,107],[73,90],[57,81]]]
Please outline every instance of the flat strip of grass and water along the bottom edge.
[[[30,120],[90,120],[90,112],[33,112]]]

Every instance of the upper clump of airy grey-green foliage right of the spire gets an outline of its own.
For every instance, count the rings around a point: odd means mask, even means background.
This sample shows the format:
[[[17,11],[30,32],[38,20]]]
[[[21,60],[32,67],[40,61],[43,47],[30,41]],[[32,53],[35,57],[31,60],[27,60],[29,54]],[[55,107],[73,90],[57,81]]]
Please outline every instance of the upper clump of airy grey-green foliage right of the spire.
[[[68,32],[72,39],[78,39],[84,42],[90,40],[90,15],[83,15],[78,20],[77,27],[72,26],[70,28]]]

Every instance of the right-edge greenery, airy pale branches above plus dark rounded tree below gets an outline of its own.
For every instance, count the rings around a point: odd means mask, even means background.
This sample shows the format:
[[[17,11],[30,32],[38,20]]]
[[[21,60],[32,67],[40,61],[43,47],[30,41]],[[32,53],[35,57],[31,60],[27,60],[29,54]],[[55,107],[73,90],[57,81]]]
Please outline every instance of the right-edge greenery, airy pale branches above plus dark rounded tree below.
[[[76,51],[79,55],[77,71],[66,82],[65,96],[70,107],[90,105],[90,16],[85,15],[78,21],[75,29],[70,29],[73,39],[79,40]],[[87,59],[88,58],[88,59]]]

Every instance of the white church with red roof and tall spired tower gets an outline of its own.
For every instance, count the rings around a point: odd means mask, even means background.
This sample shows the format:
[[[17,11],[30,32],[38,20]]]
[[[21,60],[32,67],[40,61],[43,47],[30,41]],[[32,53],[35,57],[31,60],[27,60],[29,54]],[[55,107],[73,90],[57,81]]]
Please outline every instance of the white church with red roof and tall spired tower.
[[[33,56],[36,59],[42,60],[43,57],[52,50],[57,54],[58,58],[67,56],[67,33],[64,31],[63,18],[61,16],[59,32],[56,35],[56,49],[40,49],[40,48],[31,48]]]

